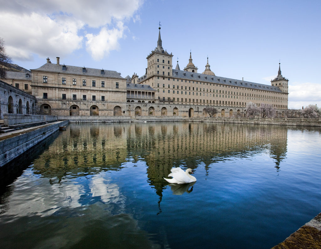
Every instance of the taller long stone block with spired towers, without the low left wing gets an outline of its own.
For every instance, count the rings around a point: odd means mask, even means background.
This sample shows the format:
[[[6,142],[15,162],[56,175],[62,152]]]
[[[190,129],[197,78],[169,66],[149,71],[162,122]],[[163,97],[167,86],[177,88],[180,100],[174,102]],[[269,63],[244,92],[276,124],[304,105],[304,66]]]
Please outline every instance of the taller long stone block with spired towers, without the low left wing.
[[[277,110],[288,108],[288,80],[281,75],[280,67],[271,85],[265,85],[215,76],[208,58],[204,72],[197,73],[191,53],[184,70],[180,70],[178,62],[172,69],[172,57],[162,47],[159,30],[157,47],[147,56],[146,74],[132,78],[156,89],[161,103],[214,106],[230,113],[244,110],[247,102],[257,106],[272,104]]]

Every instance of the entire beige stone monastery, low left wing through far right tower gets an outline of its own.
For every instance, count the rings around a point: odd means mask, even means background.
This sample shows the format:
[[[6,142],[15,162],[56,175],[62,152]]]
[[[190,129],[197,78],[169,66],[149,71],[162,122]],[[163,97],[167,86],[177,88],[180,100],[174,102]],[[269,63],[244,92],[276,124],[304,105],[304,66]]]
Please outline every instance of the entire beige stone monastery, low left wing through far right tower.
[[[205,108],[217,116],[243,116],[248,102],[288,108],[288,79],[279,71],[271,85],[215,76],[208,63],[203,73],[192,54],[184,70],[173,69],[172,54],[157,47],[147,56],[145,75],[123,78],[111,70],[47,62],[28,72],[11,73],[3,79],[36,98],[35,112],[58,116],[179,116],[206,117]],[[14,104],[13,104],[14,105]],[[9,112],[10,110],[8,110]],[[9,112],[10,113],[10,112]]]

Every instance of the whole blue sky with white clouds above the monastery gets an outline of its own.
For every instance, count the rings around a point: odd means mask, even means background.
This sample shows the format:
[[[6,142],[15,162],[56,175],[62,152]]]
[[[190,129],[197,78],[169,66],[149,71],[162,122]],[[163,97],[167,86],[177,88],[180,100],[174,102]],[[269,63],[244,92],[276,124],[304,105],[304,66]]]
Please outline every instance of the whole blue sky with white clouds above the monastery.
[[[157,46],[198,72],[271,84],[279,62],[288,107],[321,107],[320,0],[0,0],[0,37],[14,64],[60,64],[142,76]]]

